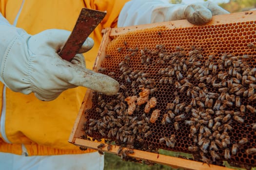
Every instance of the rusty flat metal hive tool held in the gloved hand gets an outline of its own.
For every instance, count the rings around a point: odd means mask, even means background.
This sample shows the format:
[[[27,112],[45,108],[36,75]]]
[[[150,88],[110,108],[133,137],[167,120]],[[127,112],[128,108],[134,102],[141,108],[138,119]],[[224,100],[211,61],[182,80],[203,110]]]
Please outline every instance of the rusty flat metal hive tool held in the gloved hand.
[[[77,23],[59,52],[59,56],[64,60],[71,61],[106,14],[106,12],[82,8]]]

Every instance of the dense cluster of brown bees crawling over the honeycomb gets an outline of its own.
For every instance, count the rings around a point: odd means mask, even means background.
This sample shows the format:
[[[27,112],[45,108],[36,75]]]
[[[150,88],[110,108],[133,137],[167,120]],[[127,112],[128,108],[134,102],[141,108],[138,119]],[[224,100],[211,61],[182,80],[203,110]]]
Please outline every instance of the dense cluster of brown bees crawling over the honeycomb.
[[[193,153],[197,161],[221,165],[222,160],[237,156],[240,148],[246,148],[248,155],[256,154],[256,148],[247,145],[246,136],[238,140],[232,137],[234,123],[256,130],[256,123],[248,123],[245,116],[256,114],[256,68],[247,62],[253,56],[204,56],[203,49],[194,46],[188,53],[181,47],[167,53],[162,44],[152,50],[124,45],[117,51],[129,54],[118,64],[118,70],[98,70],[118,80],[120,90],[114,97],[94,92],[93,107],[86,112],[100,117],[88,117],[84,124],[87,136],[107,138],[130,149],[157,152],[164,144],[164,149],[179,151],[175,132],[189,127],[187,140],[191,142],[183,151]],[[131,64],[134,58],[140,59],[137,64],[143,69],[135,69]],[[147,71],[150,69],[153,74]],[[162,87],[173,90],[173,97],[164,106],[159,103],[166,99],[158,97]],[[159,145],[154,145],[150,138],[154,128],[161,126],[172,132],[158,136],[155,143]],[[126,152],[119,155],[127,158]]]

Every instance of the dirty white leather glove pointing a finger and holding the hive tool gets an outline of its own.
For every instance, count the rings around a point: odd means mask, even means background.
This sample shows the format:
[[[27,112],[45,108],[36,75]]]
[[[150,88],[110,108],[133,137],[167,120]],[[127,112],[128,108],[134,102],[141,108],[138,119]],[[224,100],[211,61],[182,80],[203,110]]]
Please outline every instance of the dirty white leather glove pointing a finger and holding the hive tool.
[[[33,92],[42,101],[54,100],[62,91],[76,86],[116,94],[118,82],[86,69],[81,54],[71,62],[60,58],[58,51],[69,34],[53,29],[30,35],[0,15],[0,81],[15,92]],[[90,50],[93,45],[93,39],[87,38],[80,52]]]

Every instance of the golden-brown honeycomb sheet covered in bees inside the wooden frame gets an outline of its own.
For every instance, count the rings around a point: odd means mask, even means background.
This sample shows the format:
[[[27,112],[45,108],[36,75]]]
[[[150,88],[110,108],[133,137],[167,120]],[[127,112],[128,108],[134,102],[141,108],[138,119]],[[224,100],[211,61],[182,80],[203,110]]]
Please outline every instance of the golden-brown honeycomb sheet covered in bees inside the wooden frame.
[[[115,36],[98,72],[116,79],[120,90],[94,92],[85,136],[255,167],[255,39],[256,21]]]

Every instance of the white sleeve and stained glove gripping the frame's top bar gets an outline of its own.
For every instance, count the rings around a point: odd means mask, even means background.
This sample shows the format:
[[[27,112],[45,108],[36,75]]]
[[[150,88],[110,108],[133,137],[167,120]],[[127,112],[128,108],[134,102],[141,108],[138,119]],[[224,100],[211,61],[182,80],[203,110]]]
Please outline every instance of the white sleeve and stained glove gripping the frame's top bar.
[[[221,14],[229,12],[211,1],[170,4],[169,0],[131,0],[122,8],[118,17],[118,27],[178,19],[187,19],[192,24],[202,25],[211,21],[212,16]]]

